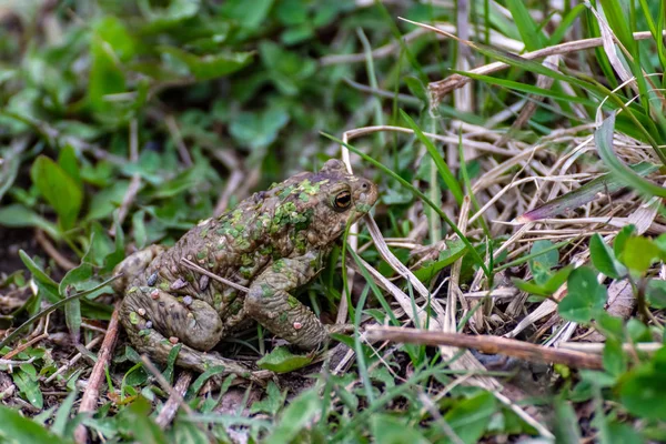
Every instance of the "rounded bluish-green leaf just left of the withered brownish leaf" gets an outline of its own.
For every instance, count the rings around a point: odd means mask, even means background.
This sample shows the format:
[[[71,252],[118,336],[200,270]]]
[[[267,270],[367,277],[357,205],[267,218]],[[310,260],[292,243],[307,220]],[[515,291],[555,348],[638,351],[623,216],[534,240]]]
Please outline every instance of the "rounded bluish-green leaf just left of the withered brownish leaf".
[[[597,282],[596,272],[581,266],[568,276],[566,297],[559,302],[559,315],[567,321],[587,323],[604,310],[606,287]]]

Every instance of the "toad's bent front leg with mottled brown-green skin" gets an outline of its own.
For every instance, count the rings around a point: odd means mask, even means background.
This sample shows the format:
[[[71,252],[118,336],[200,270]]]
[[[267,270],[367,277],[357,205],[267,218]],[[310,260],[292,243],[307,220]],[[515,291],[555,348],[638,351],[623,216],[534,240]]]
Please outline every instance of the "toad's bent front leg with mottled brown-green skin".
[[[245,312],[273,334],[312,350],[329,337],[316,315],[290,294],[317,273],[320,253],[281,259],[260,274],[245,296]]]

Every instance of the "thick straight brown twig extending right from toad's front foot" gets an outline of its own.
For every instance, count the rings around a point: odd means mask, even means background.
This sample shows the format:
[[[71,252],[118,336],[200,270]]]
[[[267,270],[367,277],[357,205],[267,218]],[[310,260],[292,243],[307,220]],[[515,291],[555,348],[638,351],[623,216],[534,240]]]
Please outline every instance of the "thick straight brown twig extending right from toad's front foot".
[[[483,353],[504,354],[529,362],[565,364],[577,369],[601,370],[603,366],[602,357],[598,355],[546,347],[498,336],[472,336],[462,333],[444,333],[391,326],[370,326],[365,331],[365,334],[369,340],[373,341],[475,349]]]

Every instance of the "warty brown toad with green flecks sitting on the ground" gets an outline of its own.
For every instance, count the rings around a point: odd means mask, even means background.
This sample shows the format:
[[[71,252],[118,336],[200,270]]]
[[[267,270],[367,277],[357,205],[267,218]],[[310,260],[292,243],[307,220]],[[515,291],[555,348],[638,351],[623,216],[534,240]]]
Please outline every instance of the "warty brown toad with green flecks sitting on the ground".
[[[223,365],[245,376],[244,366],[210,351],[249,322],[316,349],[340,326],[322,324],[294,293],[376,200],[374,183],[329,160],[199,223],[170,249],[133,253],[115,268],[121,278],[113,283],[124,294],[120,320],[130,342],[162,363],[181,343],[178,365]]]

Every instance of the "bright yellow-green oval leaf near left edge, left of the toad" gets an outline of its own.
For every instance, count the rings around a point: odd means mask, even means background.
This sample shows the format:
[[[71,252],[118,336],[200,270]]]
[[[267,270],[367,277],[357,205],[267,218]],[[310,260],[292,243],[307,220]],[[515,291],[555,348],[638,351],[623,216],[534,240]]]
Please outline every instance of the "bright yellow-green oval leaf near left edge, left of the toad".
[[[30,169],[30,176],[41,195],[58,213],[61,226],[64,230],[71,229],[83,203],[82,188],[46,155],[37,158]]]

